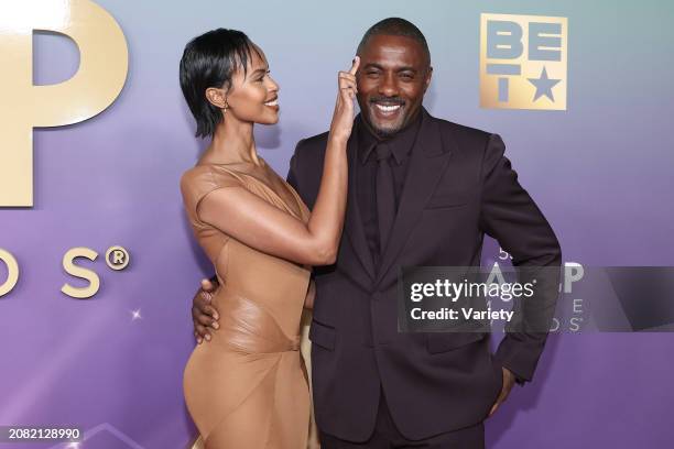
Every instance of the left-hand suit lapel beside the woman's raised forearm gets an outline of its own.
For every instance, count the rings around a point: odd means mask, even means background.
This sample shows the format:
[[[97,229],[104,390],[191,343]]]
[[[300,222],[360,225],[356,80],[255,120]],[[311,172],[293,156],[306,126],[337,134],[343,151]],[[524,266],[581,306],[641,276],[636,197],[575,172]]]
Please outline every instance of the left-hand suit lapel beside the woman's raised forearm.
[[[356,120],[355,127],[359,120]],[[362,219],[360,218],[360,209],[358,207],[358,198],[356,195],[356,163],[358,161],[358,139],[356,139],[357,130],[354,129],[351,132],[351,139],[347,145],[347,157],[349,162],[349,191],[347,199],[347,211],[346,211],[346,226],[345,232],[349,238],[354,252],[358,255],[360,263],[366,269],[367,273],[371,278],[374,278],[374,262],[372,261],[372,254],[368,247],[368,242],[365,234],[365,228],[362,226]]]

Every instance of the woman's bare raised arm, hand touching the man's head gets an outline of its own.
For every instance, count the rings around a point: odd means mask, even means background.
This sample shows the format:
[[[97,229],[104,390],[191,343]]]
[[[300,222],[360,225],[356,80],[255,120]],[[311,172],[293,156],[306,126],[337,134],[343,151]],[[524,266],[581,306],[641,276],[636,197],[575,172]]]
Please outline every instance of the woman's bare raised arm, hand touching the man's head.
[[[339,92],[330,124],[320,188],[307,223],[243,187],[218,188],[200,201],[202,221],[257,250],[302,264],[335,262],[347,199],[346,145],[354,123],[356,57],[349,72],[339,73]]]

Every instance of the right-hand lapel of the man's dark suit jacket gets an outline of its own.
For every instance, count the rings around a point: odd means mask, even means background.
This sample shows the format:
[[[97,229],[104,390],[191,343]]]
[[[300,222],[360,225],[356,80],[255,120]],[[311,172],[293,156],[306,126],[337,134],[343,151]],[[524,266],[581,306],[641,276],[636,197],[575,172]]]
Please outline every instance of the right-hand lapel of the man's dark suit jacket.
[[[405,245],[426,201],[449,162],[454,142],[445,142],[436,119],[422,110],[423,119],[405,178],[393,229],[381,260],[376,284],[379,284]]]

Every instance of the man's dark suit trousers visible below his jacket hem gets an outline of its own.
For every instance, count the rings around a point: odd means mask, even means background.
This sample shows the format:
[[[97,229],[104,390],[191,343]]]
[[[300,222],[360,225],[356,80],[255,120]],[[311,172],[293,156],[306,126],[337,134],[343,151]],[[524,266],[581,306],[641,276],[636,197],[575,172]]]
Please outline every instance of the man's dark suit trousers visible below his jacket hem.
[[[406,439],[395,427],[380,387],[374,430],[367,441],[351,442],[318,429],[322,449],[485,449],[485,423],[435,435],[422,440]]]

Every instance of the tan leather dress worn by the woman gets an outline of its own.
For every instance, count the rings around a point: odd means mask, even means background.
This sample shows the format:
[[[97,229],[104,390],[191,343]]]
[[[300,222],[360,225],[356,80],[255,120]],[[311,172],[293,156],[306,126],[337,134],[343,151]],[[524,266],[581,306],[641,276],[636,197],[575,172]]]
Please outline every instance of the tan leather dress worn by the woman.
[[[187,361],[185,403],[206,448],[306,448],[309,390],[298,349],[309,267],[257,251],[197,216],[208,193],[242,186],[308,221],[308,209],[290,185],[293,204],[250,168],[246,163],[204,164],[181,179],[195,237],[221,285],[213,299],[220,328]]]

